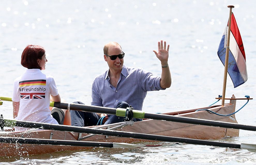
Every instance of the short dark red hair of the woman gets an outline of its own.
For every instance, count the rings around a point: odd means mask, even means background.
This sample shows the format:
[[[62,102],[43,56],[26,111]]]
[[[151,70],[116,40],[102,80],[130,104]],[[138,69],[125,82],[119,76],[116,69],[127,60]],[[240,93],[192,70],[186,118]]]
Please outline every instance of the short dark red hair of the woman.
[[[43,47],[38,45],[27,45],[21,54],[20,64],[28,69],[40,69],[37,59],[42,59],[45,54]]]

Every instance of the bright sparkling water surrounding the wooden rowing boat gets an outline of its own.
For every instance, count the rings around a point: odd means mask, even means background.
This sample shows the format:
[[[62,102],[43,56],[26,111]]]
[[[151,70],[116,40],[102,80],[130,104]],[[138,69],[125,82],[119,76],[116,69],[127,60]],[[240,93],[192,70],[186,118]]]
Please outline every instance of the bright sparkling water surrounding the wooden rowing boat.
[[[233,9],[242,35],[248,80],[226,97],[255,95],[256,28],[254,1],[2,1],[0,5],[1,96],[11,97],[13,80],[25,72],[20,56],[28,44],[46,49],[43,73],[54,76],[63,100],[91,102],[94,78],[107,70],[103,46],[118,42],[124,64],[161,75],[153,50],[157,41],[170,44],[171,88],[148,92],[143,110],[171,112],[205,107],[222,94],[224,66],[217,48]],[[237,101],[236,109],[246,101]],[[236,114],[240,124],[256,125],[255,101]],[[12,104],[0,107],[12,118]],[[254,143],[255,132],[240,131],[234,143]],[[60,152],[24,158],[0,158],[1,164],[255,164],[255,153],[200,145],[161,149],[105,149]]]

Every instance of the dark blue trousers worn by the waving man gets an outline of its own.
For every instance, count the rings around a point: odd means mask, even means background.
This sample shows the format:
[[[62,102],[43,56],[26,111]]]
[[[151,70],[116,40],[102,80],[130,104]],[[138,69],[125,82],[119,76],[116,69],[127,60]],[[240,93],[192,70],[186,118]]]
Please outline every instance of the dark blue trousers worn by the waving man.
[[[75,101],[73,103],[76,104],[84,104],[81,101]],[[115,108],[124,108],[126,109],[129,107],[129,104],[127,102],[119,102]],[[93,126],[97,125],[100,116],[97,115],[94,112],[84,112],[84,111],[70,111],[71,115],[71,125],[72,126],[78,126],[78,127],[86,127],[86,126]],[[124,121],[124,117],[116,116],[116,115],[110,115],[108,114],[108,119],[104,124],[112,124],[112,123],[119,123]],[[141,119],[134,118],[133,121],[141,121]]]

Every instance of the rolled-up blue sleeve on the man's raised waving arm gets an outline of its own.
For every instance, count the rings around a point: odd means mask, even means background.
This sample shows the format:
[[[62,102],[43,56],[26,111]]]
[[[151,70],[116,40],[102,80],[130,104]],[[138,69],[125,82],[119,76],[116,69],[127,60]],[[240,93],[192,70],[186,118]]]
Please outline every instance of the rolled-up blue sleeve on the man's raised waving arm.
[[[141,88],[145,91],[159,91],[165,90],[166,88],[161,88],[160,86],[160,76],[155,76],[150,72],[143,70],[142,68],[138,70],[140,72],[139,82]]]

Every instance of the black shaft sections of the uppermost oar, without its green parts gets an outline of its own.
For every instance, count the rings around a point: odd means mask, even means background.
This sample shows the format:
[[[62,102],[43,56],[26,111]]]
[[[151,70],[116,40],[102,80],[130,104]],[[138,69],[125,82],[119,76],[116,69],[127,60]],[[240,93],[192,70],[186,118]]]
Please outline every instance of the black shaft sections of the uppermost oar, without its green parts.
[[[67,109],[68,103],[55,102],[54,107]],[[70,104],[71,110],[77,111],[86,111],[86,112],[96,112],[96,113],[105,113],[105,114],[113,114],[116,115],[115,108],[106,108],[106,107],[97,107],[97,106],[88,106],[82,104]],[[164,115],[164,114],[152,114],[146,113],[144,118],[155,119],[155,120],[166,120],[166,121],[174,121],[179,123],[188,123],[188,124],[200,124],[206,126],[216,126],[223,128],[234,128],[234,129],[243,129],[248,131],[256,131],[256,126],[252,125],[243,125],[237,123],[228,123],[223,121],[213,121],[213,120],[205,120],[205,119],[196,119],[182,116],[172,116],[172,115]]]

